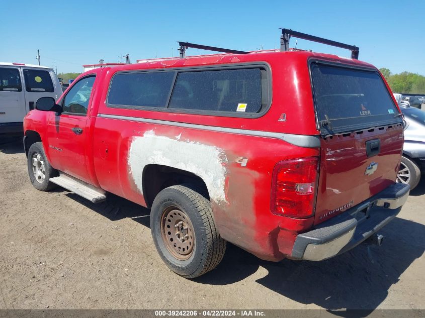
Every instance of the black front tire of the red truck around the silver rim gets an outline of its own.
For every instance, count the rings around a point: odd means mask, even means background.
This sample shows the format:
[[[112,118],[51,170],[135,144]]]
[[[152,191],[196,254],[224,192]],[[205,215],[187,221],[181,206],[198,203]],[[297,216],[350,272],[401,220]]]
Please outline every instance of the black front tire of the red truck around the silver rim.
[[[41,178],[36,175],[33,168],[33,158],[35,156],[39,156],[39,158],[42,161],[42,170],[44,170],[44,177]],[[49,179],[51,177],[58,176],[57,170],[53,169],[50,165],[50,162],[46,158],[46,154],[44,152],[43,144],[41,142],[37,142],[31,145],[30,149],[28,150],[28,157],[27,157],[27,163],[28,163],[28,174],[30,176],[31,183],[33,186],[40,191],[49,191],[56,187],[56,184],[53,182],[50,182]],[[37,168],[36,168],[37,169]]]

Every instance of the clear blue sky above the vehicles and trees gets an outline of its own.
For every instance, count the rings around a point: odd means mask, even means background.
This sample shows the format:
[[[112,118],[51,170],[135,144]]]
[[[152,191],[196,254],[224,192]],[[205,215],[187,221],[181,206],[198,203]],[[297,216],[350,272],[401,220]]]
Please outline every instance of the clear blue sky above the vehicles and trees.
[[[273,49],[284,27],[357,45],[361,60],[393,73],[425,75],[425,0],[3,0],[0,21],[0,61],[36,64],[40,49],[41,64],[56,61],[58,72],[81,72],[82,64],[117,62],[127,53],[132,62],[176,56],[176,41]],[[297,48],[350,54],[304,40]]]

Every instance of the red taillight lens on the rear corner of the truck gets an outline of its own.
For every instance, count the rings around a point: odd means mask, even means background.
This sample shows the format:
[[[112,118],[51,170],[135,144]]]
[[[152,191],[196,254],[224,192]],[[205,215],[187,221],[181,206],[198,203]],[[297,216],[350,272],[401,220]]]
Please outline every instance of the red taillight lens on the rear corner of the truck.
[[[291,218],[314,214],[318,157],[281,161],[273,170],[272,213]]]

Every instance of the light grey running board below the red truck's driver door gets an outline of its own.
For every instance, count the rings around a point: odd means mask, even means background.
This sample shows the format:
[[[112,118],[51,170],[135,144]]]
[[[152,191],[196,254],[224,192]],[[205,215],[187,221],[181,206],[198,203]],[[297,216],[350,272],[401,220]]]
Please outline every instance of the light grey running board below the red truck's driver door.
[[[60,173],[58,177],[50,178],[51,182],[65,188],[75,194],[86,198],[93,203],[106,200],[106,192],[84,181],[78,180],[65,173]]]

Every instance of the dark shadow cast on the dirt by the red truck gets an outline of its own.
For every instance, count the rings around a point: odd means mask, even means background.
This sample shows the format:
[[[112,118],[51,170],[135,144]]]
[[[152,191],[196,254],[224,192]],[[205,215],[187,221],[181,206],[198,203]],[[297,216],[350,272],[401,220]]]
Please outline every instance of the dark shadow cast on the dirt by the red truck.
[[[116,195],[93,204],[73,193],[67,196],[93,209],[111,221],[131,218],[150,227],[149,209]],[[223,261],[213,271],[194,279],[201,284],[227,285],[240,282],[260,267],[268,274],[258,284],[303,304],[316,304],[329,312],[347,315],[338,309],[373,311],[388,295],[389,288],[425,251],[425,226],[395,218],[380,234],[382,247],[360,245],[343,255],[321,261],[267,262],[227,244]],[[260,295],[259,295],[260,297]],[[353,312],[352,316],[365,314]]]

